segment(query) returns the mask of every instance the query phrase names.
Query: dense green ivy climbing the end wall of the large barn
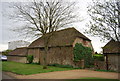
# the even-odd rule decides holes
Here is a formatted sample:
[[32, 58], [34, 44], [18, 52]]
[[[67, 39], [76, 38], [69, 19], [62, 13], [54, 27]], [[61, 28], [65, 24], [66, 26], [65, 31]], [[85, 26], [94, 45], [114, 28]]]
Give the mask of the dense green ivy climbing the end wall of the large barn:
[[76, 43], [74, 47], [74, 61], [80, 61], [84, 59], [85, 67], [91, 65], [93, 61], [92, 49], [89, 47], [83, 46], [81, 43]]

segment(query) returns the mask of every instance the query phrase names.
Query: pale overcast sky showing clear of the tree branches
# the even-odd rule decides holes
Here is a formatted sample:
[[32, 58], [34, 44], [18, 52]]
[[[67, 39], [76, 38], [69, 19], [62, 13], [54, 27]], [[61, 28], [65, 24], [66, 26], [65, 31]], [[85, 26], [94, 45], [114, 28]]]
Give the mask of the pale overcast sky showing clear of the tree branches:
[[[35, 39], [25, 39], [19, 37], [15, 32], [10, 31], [12, 27], [19, 26], [21, 23], [13, 23], [6, 14], [12, 13], [12, 10], [9, 9], [9, 4], [11, 2], [24, 2], [30, 0], [1, 0], [0, 2], [0, 51], [8, 49], [8, 42], [16, 41], [16, 40], [26, 40], [32, 42]], [[84, 34], [84, 29], [87, 29], [86, 24], [89, 22], [89, 15], [87, 14], [87, 6], [91, 4], [92, 0], [69, 0], [77, 2], [78, 14], [83, 19], [83, 21], [73, 24], [72, 27], [75, 27], [78, 31]], [[108, 41], [100, 41], [99, 37], [90, 36], [87, 34], [88, 38], [92, 40], [92, 45], [95, 52], [101, 52], [103, 47]]]

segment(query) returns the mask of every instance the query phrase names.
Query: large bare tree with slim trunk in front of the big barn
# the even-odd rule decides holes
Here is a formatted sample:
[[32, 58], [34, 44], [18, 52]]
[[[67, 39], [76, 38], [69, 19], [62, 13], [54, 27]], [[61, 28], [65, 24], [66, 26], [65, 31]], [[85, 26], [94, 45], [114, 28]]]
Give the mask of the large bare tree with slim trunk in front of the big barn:
[[[44, 66], [47, 68], [47, 53], [50, 36], [54, 31], [66, 27], [71, 23], [76, 22], [77, 16], [74, 14], [74, 2], [63, 1], [34, 1], [29, 3], [14, 4], [12, 8], [15, 13], [12, 19], [23, 21], [25, 24], [14, 31], [20, 31], [33, 36], [44, 37]], [[50, 36], [47, 36], [50, 33]]]

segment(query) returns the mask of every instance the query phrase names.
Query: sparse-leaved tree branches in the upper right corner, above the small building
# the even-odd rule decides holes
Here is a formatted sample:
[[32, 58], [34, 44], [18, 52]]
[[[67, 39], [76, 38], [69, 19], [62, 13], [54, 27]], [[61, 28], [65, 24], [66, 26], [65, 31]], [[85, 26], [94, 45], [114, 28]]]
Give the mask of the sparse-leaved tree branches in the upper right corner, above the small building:
[[87, 33], [120, 41], [120, 0], [93, 0], [88, 13], [91, 20]]

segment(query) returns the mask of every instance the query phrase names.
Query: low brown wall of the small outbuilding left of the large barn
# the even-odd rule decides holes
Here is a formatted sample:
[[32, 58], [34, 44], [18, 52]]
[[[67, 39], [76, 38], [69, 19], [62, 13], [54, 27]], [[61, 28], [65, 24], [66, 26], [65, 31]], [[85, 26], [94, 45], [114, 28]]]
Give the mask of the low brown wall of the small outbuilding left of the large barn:
[[27, 62], [26, 57], [20, 57], [20, 56], [7, 56], [7, 60], [14, 61], [14, 62], [21, 62], [21, 63]]

